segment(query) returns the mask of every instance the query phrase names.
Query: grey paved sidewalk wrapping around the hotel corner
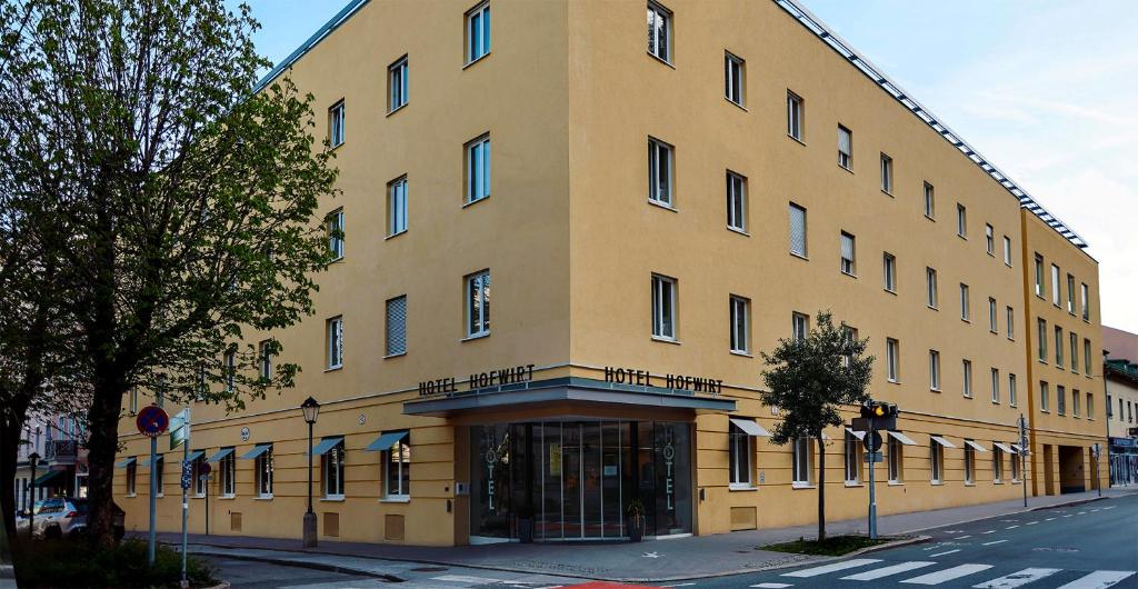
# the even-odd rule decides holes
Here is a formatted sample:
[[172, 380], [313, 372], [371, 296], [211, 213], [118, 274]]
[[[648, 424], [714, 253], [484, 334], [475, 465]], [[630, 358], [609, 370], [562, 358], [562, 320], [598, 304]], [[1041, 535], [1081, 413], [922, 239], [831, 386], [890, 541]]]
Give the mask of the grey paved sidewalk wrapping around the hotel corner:
[[[1138, 489], [1104, 489], [1103, 498], [1133, 495]], [[1097, 491], [1022, 499], [931, 512], [885, 515], [877, 519], [882, 536], [912, 534], [921, 530], [955, 525], [997, 515], [1097, 500]], [[817, 525], [751, 530], [716, 536], [632, 542], [498, 544], [490, 546], [422, 547], [321, 540], [318, 548], [302, 549], [298, 539], [190, 534], [192, 551], [300, 564], [324, 570], [398, 578], [406, 564], [434, 564], [517, 573], [553, 574], [621, 582], [659, 582], [718, 576], [786, 566], [825, 557], [759, 550], [768, 544], [811, 538]], [[865, 533], [865, 519], [826, 523], [830, 534]], [[180, 534], [159, 533], [168, 544]], [[337, 569], [339, 567], [339, 569]]]

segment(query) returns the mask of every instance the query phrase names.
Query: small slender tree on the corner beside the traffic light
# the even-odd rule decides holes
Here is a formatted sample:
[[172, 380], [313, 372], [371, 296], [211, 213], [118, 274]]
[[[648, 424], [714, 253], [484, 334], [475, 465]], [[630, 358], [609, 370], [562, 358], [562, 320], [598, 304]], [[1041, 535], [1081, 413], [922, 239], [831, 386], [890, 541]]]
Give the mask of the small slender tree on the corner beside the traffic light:
[[868, 400], [873, 356], [864, 356], [869, 340], [835, 326], [828, 312], [802, 339], [781, 339], [769, 355], [762, 352], [767, 390], [764, 405], [777, 407], [780, 421], [770, 441], [780, 446], [806, 438], [818, 443], [818, 541], [826, 539], [826, 446], [822, 432], [842, 425], [841, 407]]

